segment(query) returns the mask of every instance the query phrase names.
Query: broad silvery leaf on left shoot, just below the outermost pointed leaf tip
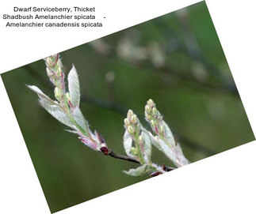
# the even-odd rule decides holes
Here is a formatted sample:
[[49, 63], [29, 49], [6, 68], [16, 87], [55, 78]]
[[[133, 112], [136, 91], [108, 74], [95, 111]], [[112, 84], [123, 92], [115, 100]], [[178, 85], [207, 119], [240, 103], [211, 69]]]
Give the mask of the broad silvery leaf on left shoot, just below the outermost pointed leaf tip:
[[50, 104], [48, 101], [45, 101], [45, 99], [39, 100], [40, 104], [50, 115], [52, 115], [54, 118], [59, 120], [59, 122], [62, 122], [66, 126], [69, 126], [73, 128], [73, 123], [70, 121], [70, 119], [67, 117], [67, 114], [65, 111], [63, 111], [62, 107], [59, 107], [59, 105]]

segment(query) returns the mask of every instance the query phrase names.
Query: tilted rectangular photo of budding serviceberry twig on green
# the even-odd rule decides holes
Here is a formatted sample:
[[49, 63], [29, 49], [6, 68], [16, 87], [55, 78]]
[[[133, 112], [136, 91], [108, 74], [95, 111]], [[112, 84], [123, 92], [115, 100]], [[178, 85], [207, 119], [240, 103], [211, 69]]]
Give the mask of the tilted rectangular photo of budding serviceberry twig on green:
[[1, 77], [51, 212], [255, 140], [205, 2]]

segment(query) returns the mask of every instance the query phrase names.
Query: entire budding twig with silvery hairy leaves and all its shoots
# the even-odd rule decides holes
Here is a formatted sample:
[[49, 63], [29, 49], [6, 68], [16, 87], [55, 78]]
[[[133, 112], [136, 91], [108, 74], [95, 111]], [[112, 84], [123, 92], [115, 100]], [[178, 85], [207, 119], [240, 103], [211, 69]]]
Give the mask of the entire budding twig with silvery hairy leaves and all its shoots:
[[52, 100], [34, 85], [27, 85], [39, 97], [42, 107], [52, 117], [68, 126], [71, 133], [78, 135], [82, 143], [95, 151], [102, 152], [105, 156], [113, 156], [122, 160], [139, 163], [140, 166], [129, 171], [124, 171], [127, 175], [139, 176], [146, 173], [159, 175], [165, 173], [166, 166], [158, 165], [151, 160], [151, 147], [154, 145], [166, 157], [168, 157], [176, 167], [181, 167], [189, 163], [182, 153], [180, 145], [174, 140], [173, 133], [169, 126], [163, 121], [162, 115], [155, 107], [152, 99], [147, 101], [145, 106], [145, 118], [151, 125], [152, 133], [146, 130], [139, 118], [132, 110], [128, 111], [127, 118], [124, 119], [124, 151], [127, 156], [115, 154], [105, 143], [105, 139], [96, 130], [92, 132], [86, 118], [79, 108], [80, 86], [78, 73], [75, 66], [67, 75], [67, 87], [63, 65], [59, 54], [54, 54], [44, 59], [47, 75], [54, 85], [55, 100]]

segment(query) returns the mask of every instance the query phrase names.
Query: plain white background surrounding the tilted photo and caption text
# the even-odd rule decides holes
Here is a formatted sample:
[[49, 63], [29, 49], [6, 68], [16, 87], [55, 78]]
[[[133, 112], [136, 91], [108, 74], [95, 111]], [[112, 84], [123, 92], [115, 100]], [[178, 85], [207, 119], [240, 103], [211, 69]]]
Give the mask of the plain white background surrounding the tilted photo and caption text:
[[[196, 0], [7, 1], [0, 7], [1, 73], [49, 54], [170, 13]], [[227, 62], [256, 132], [255, 6], [253, 0], [206, 1]], [[4, 4], [4, 5], [3, 5]], [[94, 30], [6, 29], [2, 13], [13, 6], [95, 6], [107, 17]], [[0, 212], [50, 213], [29, 152], [0, 80]], [[166, 175], [128, 186], [59, 213], [256, 213], [255, 142], [192, 163]]]

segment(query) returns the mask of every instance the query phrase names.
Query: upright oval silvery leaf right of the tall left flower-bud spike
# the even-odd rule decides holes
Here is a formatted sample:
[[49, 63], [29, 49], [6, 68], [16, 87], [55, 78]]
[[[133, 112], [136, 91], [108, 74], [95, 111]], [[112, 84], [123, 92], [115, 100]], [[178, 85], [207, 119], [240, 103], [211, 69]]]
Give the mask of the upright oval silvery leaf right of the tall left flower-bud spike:
[[68, 91], [71, 96], [71, 103], [75, 106], [79, 106], [80, 102], [80, 86], [78, 80], [78, 73], [73, 65], [71, 71], [67, 75]]

